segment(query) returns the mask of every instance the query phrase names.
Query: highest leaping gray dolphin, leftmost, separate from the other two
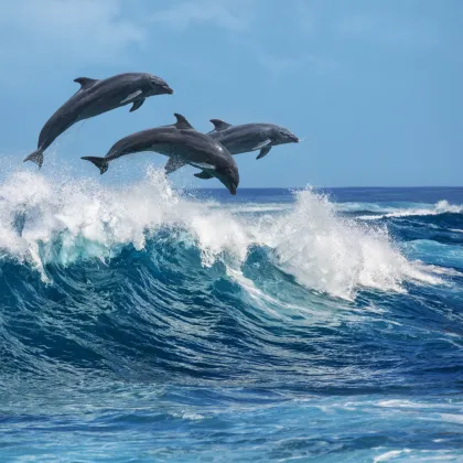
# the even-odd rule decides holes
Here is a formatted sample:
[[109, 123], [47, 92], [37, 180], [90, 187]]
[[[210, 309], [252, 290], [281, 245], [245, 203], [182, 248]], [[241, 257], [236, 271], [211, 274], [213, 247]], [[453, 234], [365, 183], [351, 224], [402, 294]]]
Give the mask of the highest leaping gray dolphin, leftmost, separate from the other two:
[[37, 150], [25, 158], [24, 162], [32, 161], [41, 168], [43, 152], [79, 120], [125, 105], [132, 105], [132, 112], [150, 96], [173, 94], [172, 88], [162, 78], [146, 73], [118, 74], [103, 80], [78, 77], [74, 82], [80, 84], [79, 90], [46, 121], [40, 132]]

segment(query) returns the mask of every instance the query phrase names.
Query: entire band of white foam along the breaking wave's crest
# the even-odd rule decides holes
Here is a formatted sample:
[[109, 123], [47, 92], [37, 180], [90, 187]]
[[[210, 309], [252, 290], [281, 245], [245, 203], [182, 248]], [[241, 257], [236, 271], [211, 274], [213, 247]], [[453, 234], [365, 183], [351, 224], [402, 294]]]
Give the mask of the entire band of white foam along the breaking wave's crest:
[[45, 274], [46, 262], [107, 262], [123, 246], [142, 249], [147, 235], [170, 227], [198, 247], [204, 266], [225, 259], [239, 269], [250, 246], [265, 246], [301, 284], [345, 299], [362, 287], [403, 291], [405, 281], [441, 282], [428, 267], [407, 260], [386, 230], [340, 218], [326, 197], [310, 190], [295, 195], [283, 215], [246, 216], [182, 196], [155, 170], [127, 187], [20, 172], [0, 185], [0, 252]]

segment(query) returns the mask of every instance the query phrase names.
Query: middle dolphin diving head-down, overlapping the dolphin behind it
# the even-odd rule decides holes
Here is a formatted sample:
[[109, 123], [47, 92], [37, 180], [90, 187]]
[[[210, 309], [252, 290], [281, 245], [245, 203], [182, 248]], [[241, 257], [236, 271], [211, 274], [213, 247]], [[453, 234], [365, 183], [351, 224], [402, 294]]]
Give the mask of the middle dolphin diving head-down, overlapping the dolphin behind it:
[[202, 172], [194, 175], [198, 179], [218, 179], [235, 195], [239, 183], [238, 166], [232, 154], [220, 143], [205, 133], [196, 131], [179, 114], [176, 122], [155, 129], [142, 130], [117, 141], [105, 158], [84, 157], [93, 162], [100, 174], [108, 170], [110, 161], [122, 155], [154, 151], [169, 157], [165, 173], [170, 174], [185, 164], [198, 168]]

